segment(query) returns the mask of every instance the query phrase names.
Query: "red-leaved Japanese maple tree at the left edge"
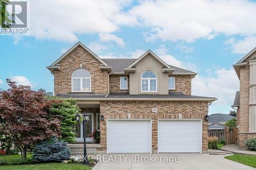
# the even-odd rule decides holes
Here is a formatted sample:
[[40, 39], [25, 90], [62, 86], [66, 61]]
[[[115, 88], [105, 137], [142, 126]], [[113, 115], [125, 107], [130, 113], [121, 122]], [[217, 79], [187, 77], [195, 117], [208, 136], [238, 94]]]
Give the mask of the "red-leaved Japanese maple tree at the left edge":
[[53, 103], [45, 93], [30, 86], [16, 85], [7, 79], [8, 90], [0, 90], [0, 133], [10, 138], [27, 157], [27, 148], [40, 140], [59, 134], [59, 115], [49, 109]]

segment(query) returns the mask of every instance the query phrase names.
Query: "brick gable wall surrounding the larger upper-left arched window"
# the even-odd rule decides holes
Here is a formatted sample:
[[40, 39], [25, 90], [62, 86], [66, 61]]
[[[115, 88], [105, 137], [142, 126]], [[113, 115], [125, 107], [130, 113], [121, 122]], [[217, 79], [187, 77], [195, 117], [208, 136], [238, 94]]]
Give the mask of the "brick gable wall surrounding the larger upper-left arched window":
[[53, 71], [55, 95], [72, 91], [72, 74], [74, 70], [80, 68], [80, 65], [91, 74], [91, 91], [95, 93], [108, 93], [108, 71], [100, 70], [99, 65], [101, 62], [81, 46], [75, 48], [58, 64], [60, 64], [60, 70]]

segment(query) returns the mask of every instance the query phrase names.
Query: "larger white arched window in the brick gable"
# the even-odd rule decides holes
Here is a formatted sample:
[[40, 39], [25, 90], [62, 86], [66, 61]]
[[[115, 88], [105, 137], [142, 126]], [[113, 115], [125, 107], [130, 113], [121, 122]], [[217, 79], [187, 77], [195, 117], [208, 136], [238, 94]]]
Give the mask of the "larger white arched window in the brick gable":
[[73, 72], [72, 91], [91, 91], [91, 74], [88, 70], [78, 68]]

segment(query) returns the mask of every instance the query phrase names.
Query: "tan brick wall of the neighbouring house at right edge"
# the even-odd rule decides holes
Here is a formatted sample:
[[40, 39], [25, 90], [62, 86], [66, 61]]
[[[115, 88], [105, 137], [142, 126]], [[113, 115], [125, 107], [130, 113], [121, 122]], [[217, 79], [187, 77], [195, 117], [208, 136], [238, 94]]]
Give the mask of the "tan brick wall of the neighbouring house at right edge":
[[239, 147], [245, 148], [245, 141], [256, 137], [256, 133], [249, 132], [249, 86], [250, 86], [250, 67], [247, 62], [245, 67], [240, 69], [240, 108], [238, 110], [237, 123], [239, 125], [238, 140]]

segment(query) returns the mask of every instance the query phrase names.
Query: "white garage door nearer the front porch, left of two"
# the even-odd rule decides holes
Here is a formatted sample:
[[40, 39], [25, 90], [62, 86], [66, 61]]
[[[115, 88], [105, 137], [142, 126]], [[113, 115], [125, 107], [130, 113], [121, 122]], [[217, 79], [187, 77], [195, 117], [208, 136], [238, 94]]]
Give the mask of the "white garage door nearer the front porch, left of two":
[[107, 121], [107, 153], [151, 153], [150, 120]]

